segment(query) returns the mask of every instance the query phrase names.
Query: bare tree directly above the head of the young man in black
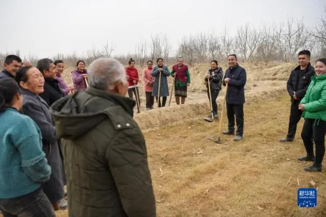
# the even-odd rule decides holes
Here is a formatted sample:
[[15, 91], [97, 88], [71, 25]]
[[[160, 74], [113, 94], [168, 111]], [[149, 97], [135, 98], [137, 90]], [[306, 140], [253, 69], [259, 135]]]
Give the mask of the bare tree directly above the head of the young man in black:
[[299, 49], [309, 49], [311, 45], [303, 19], [293, 23], [293, 18], [288, 18], [286, 24], [281, 23], [277, 32], [277, 47], [283, 61], [293, 60]]

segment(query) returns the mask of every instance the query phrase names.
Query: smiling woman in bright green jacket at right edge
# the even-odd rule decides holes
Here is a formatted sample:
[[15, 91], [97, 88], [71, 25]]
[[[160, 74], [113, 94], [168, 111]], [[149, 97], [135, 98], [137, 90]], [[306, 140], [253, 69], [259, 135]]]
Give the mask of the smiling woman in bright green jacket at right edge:
[[[304, 142], [307, 156], [298, 157], [299, 161], [312, 161], [314, 164], [306, 167], [306, 171], [321, 171], [321, 162], [325, 153], [326, 134], [326, 58], [318, 59], [315, 65], [316, 75], [312, 77], [305, 97], [301, 100], [299, 109], [303, 110], [305, 118], [301, 138]], [[314, 155], [313, 136], [316, 144]]]

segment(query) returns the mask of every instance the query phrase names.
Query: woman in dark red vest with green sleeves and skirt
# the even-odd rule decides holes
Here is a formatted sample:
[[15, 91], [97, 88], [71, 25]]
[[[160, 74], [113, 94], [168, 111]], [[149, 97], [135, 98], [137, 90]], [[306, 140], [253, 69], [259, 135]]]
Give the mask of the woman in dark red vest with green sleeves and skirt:
[[[187, 97], [187, 86], [190, 84], [188, 66], [183, 64], [183, 59], [178, 59], [178, 64], [172, 67], [171, 76], [174, 77], [174, 96], [177, 105], [184, 104]], [[171, 93], [172, 94], [172, 93]]]

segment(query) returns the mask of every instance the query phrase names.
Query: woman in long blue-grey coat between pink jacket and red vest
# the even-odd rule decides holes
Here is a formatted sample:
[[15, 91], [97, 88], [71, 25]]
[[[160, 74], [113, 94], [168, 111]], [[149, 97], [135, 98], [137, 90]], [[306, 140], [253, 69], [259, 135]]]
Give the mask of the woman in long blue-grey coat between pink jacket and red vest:
[[[157, 61], [157, 66], [153, 68], [153, 72], [151, 75], [155, 77], [155, 81], [153, 84], [153, 91], [152, 91], [152, 96], [156, 97], [156, 101], [158, 102], [158, 107], [165, 107], [165, 104], [167, 102], [167, 97], [169, 96], [169, 86], [168, 86], [168, 78], [170, 76], [170, 71], [167, 66], [164, 66], [164, 62], [162, 58], [158, 58]], [[159, 76], [161, 75], [160, 79], [160, 89], [158, 92], [158, 82], [159, 82]], [[158, 93], [159, 93], [159, 98], [162, 97], [162, 104], [160, 99], [158, 99]]]

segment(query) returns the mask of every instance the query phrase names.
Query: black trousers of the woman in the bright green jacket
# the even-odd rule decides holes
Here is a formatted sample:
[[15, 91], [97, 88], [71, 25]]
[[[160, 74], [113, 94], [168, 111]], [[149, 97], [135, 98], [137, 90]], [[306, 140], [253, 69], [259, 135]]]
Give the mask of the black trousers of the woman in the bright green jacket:
[[301, 132], [301, 138], [304, 142], [307, 156], [314, 156], [314, 148], [311, 137], [313, 136], [316, 144], [315, 164], [321, 165], [325, 153], [325, 134], [326, 121], [320, 119], [305, 119], [304, 126]]

